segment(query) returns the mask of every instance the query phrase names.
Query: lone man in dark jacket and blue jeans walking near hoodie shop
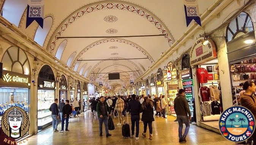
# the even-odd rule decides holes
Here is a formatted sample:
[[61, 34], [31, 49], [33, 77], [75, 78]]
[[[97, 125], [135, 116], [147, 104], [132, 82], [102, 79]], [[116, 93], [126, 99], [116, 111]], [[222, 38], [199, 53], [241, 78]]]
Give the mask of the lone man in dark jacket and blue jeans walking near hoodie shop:
[[[179, 123], [179, 142], [186, 142], [186, 136], [188, 135], [190, 128], [191, 113], [188, 106], [188, 101], [185, 98], [184, 89], [180, 89], [179, 95], [174, 99], [174, 110]], [[185, 123], [186, 128], [182, 136], [183, 123]]]

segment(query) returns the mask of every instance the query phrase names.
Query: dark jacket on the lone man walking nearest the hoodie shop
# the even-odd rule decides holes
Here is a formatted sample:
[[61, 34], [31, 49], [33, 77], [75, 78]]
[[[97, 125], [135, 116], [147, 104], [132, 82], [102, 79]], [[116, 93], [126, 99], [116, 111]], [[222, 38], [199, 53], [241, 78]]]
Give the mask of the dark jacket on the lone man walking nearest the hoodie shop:
[[176, 115], [180, 116], [191, 116], [188, 101], [184, 96], [178, 95], [174, 99], [174, 110]]

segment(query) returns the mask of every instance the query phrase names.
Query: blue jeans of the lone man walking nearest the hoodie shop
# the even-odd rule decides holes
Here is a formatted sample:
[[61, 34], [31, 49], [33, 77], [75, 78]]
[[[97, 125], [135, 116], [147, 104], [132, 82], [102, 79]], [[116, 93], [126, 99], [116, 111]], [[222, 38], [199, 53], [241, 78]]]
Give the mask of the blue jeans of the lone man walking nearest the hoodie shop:
[[182, 139], [182, 129], [183, 129], [183, 123], [186, 125], [185, 132], [183, 134], [184, 137], [188, 135], [188, 131], [190, 128], [190, 120], [188, 116], [180, 116], [177, 115], [177, 120], [179, 123], [179, 138]]

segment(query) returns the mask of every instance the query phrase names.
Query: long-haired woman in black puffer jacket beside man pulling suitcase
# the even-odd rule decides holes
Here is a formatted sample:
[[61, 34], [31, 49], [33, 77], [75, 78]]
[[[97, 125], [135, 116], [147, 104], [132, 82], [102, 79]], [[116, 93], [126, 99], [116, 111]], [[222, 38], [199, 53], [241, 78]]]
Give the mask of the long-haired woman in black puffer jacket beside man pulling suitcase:
[[144, 123], [144, 131], [142, 133], [142, 136], [146, 137], [147, 125], [149, 125], [149, 139], [152, 140], [153, 139], [152, 122], [155, 121], [155, 119], [154, 119], [153, 102], [148, 97], [144, 97], [144, 101], [141, 104], [141, 112], [142, 112], [141, 121], [143, 121]]

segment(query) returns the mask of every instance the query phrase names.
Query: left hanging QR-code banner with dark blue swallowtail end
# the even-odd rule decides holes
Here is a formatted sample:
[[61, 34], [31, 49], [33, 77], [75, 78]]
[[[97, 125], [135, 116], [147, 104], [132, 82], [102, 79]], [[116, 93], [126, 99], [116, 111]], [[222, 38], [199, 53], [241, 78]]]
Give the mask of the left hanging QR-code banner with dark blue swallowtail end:
[[43, 29], [44, 0], [28, 0], [26, 28], [35, 20]]

